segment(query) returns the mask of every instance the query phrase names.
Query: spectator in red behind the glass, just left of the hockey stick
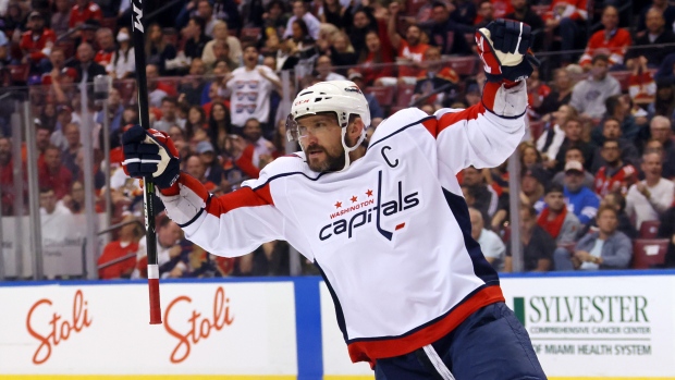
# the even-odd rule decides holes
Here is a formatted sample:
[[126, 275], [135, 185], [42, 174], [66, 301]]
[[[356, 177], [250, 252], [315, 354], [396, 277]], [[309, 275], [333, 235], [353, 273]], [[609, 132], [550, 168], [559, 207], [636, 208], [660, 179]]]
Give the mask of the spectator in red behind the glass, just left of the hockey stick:
[[[124, 217], [122, 222], [130, 222], [130, 224], [118, 230], [118, 238], [108, 243], [98, 258], [99, 268], [109, 265], [98, 270], [98, 278], [101, 280], [127, 279], [136, 266], [138, 241], [144, 235], [143, 226], [132, 214]], [[116, 260], [120, 261], [112, 263]]]

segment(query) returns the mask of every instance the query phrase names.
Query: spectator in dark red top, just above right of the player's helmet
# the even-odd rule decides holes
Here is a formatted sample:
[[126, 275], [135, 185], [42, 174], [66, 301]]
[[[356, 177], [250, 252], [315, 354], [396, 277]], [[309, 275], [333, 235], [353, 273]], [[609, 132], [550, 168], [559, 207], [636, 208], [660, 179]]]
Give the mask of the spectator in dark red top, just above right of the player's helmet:
[[394, 75], [394, 62], [391, 46], [382, 45], [380, 36], [375, 30], [366, 33], [367, 51], [358, 60], [358, 70], [364, 76], [366, 86], [373, 85], [381, 77]]

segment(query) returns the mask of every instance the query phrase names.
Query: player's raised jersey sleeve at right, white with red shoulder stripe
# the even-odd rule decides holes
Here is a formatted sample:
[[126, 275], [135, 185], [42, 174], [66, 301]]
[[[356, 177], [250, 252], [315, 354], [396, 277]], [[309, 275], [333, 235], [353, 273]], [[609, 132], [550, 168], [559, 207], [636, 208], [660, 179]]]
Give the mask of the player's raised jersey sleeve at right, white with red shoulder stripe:
[[526, 107], [525, 81], [511, 88], [488, 83], [481, 103], [458, 112], [439, 110], [422, 124], [435, 137], [439, 160], [456, 174], [469, 166], [504, 162], [525, 134]]

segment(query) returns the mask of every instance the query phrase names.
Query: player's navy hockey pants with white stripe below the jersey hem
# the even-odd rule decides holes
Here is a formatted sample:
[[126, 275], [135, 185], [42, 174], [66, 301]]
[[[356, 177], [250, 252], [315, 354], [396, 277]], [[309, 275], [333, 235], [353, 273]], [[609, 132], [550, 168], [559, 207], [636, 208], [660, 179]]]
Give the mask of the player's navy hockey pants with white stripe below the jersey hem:
[[504, 304], [488, 305], [434, 343], [378, 359], [376, 380], [545, 380], [527, 331]]

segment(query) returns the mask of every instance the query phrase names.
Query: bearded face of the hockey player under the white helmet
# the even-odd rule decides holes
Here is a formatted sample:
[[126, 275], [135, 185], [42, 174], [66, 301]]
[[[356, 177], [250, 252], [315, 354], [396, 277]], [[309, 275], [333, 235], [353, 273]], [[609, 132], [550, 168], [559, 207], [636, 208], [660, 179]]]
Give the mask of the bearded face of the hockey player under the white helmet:
[[[344, 168], [344, 147], [335, 115], [307, 115], [296, 122], [309, 169], [326, 172]], [[352, 146], [348, 140], [346, 143]]]

